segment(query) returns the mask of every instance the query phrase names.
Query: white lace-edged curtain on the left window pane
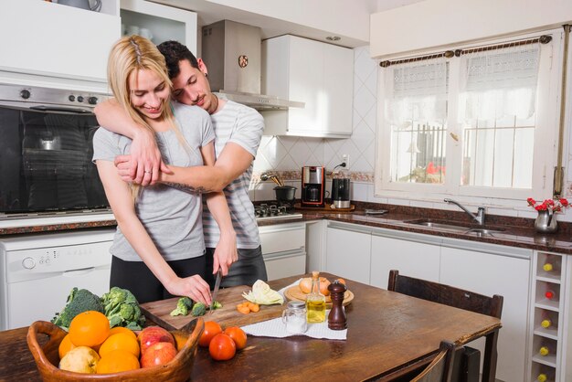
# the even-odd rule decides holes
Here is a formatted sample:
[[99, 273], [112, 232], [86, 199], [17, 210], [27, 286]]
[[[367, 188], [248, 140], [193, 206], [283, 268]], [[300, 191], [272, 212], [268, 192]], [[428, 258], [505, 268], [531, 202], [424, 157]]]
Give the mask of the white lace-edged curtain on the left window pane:
[[385, 115], [398, 128], [446, 118], [446, 58], [392, 65], [385, 70], [385, 88]]

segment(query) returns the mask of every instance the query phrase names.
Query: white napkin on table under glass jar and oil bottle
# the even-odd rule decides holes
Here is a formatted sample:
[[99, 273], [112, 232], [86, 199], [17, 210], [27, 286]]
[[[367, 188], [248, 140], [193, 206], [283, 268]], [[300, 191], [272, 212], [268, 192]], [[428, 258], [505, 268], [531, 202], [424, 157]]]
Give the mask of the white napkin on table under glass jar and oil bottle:
[[[284, 291], [286, 291], [292, 285], [298, 285], [301, 280], [302, 279], [294, 281], [290, 285], [287, 285], [280, 291], [278, 291], [282, 295], [282, 297], [284, 297], [284, 301], [287, 300], [286, 296], [284, 296]], [[307, 335], [312, 338], [327, 338], [331, 340], [347, 339], [347, 329], [332, 330], [328, 328], [327, 317], [329, 312], [330, 312], [329, 310], [326, 311], [326, 321], [324, 321], [323, 323], [308, 324], [308, 330], [302, 334], [291, 334], [286, 332], [286, 324], [282, 322], [281, 317], [274, 318], [268, 321], [262, 321], [261, 323], [257, 324], [249, 324], [246, 326], [242, 326], [242, 330], [244, 330], [247, 334], [264, 336], [264, 337], [284, 338], [284, 337], [290, 337], [291, 335]]]

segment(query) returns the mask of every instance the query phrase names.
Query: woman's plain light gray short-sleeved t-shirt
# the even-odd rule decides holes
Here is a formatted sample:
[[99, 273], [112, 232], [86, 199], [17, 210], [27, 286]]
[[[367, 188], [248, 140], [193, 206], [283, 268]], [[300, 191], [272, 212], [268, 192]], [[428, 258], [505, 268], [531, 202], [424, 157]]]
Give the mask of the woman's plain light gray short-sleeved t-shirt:
[[[202, 165], [200, 147], [215, 138], [210, 117], [198, 106], [176, 102], [172, 105], [188, 147], [179, 142], [173, 130], [156, 133], [163, 160], [165, 164], [182, 167]], [[112, 162], [117, 155], [129, 154], [131, 142], [122, 135], [98, 129], [93, 136], [93, 160]], [[200, 195], [166, 185], [146, 186], [137, 197], [135, 212], [164, 260], [184, 260], [204, 254]], [[141, 261], [119, 227], [110, 251], [122, 260]]]

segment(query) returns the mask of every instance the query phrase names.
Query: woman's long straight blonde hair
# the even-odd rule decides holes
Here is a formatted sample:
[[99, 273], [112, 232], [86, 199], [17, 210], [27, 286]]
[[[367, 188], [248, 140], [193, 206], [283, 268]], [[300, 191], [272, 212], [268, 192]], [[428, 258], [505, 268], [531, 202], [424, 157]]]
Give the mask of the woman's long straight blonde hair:
[[[142, 114], [132, 106], [131, 102], [129, 78], [133, 72], [142, 69], [153, 71], [161, 80], [164, 80], [165, 86], [169, 90], [173, 89], [173, 82], [169, 79], [164, 56], [154, 46], [154, 43], [141, 36], [122, 37], [111, 48], [107, 64], [107, 80], [113, 96], [123, 110], [129, 114], [134, 122], [143, 125], [154, 133], [153, 128], [149, 123], [145, 122]], [[169, 96], [163, 101], [164, 107], [161, 117], [171, 124], [178, 141], [188, 151], [191, 148], [175, 123], [175, 115], [170, 107], [170, 94], [171, 92], [169, 91]], [[131, 187], [134, 202], [139, 195], [141, 187], [138, 185], [132, 185]]]

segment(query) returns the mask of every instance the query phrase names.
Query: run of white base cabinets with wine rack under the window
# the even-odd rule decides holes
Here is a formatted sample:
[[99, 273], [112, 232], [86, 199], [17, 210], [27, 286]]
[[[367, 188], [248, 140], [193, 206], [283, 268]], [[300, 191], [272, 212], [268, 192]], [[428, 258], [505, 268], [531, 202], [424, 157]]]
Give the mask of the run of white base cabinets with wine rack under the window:
[[[326, 230], [325, 270], [341, 277], [387, 288], [389, 271], [395, 269], [411, 277], [437, 281], [490, 296], [502, 295], [503, 328], [497, 345], [497, 377], [503, 381], [530, 380], [527, 372], [530, 368], [530, 364], [527, 364], [527, 349], [531, 346], [539, 347], [541, 343], [551, 345], [548, 340], [553, 339], [552, 345], [556, 344], [556, 334], [546, 335], [546, 339], [535, 335], [533, 341], [527, 341], [531, 322], [529, 305], [533, 296], [532, 249], [335, 221], [328, 221]], [[564, 267], [565, 262], [560, 258], [551, 261], [558, 269]], [[541, 316], [540, 308], [551, 312], [564, 311], [562, 300], [550, 303], [541, 298], [546, 289], [551, 288], [561, 299], [568, 299], [565, 295], [567, 289], [563, 286], [564, 280], [564, 276], [558, 277], [557, 280], [554, 276], [548, 278], [547, 275], [537, 278], [535, 314], [538, 317]], [[557, 315], [554, 319], [557, 319]], [[562, 323], [562, 319], [559, 321]], [[540, 319], [535, 318], [535, 322], [539, 325]], [[566, 337], [566, 334], [561, 334], [558, 338], [563, 337]], [[559, 341], [558, 344], [564, 343], [565, 341]], [[483, 352], [484, 339], [471, 343], [471, 346]], [[559, 352], [567, 350], [572, 354], [572, 345], [568, 346], [570, 349], [565, 349], [564, 345], [558, 346]], [[535, 355], [532, 374], [544, 370], [541, 366], [554, 365], [553, 369], [556, 369], [559, 364], [556, 356], [553, 358], [550, 360], [550, 357], [539, 358]]]

